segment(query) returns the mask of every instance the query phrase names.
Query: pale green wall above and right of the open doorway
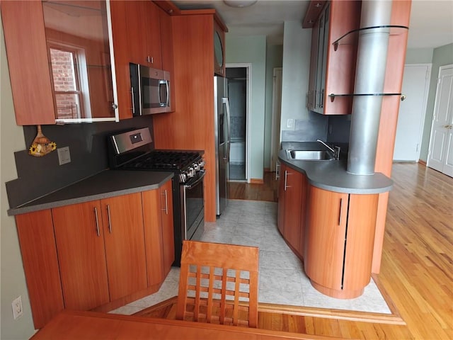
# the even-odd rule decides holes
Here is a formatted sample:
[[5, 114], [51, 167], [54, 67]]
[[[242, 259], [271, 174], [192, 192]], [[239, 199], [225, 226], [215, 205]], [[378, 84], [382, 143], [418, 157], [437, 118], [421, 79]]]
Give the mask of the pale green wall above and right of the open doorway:
[[248, 113], [249, 179], [263, 179], [266, 97], [266, 37], [255, 35], [231, 38], [226, 33], [225, 62], [251, 64], [251, 107]]

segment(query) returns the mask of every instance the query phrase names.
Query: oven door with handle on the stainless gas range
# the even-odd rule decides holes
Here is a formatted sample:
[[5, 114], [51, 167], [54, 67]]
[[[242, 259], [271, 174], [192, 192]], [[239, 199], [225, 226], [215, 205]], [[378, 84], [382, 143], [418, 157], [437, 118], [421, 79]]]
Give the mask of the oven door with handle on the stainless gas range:
[[200, 239], [205, 229], [204, 177], [205, 170], [201, 170], [190, 181], [181, 184], [183, 239]]

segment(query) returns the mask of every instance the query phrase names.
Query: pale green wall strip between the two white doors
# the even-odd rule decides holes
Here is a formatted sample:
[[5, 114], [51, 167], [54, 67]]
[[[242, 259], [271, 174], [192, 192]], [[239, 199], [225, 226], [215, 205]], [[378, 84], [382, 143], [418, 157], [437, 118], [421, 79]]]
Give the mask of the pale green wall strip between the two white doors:
[[423, 126], [422, 145], [420, 148], [420, 159], [423, 160], [424, 162], [427, 162], [428, 160], [432, 114], [434, 113], [434, 103], [436, 98], [437, 77], [439, 76], [439, 67], [448, 64], [453, 64], [453, 44], [437, 47], [432, 52], [430, 91], [428, 94], [428, 104], [426, 106], [425, 125]]

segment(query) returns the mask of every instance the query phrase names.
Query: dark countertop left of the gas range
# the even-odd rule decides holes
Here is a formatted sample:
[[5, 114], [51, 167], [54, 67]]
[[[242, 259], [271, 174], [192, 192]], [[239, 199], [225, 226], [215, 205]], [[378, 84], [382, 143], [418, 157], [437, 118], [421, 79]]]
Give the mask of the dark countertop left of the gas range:
[[173, 172], [164, 171], [105, 170], [59, 191], [11, 208], [8, 210], [8, 215], [19, 215], [62, 205], [154, 190], [160, 188], [172, 177]]

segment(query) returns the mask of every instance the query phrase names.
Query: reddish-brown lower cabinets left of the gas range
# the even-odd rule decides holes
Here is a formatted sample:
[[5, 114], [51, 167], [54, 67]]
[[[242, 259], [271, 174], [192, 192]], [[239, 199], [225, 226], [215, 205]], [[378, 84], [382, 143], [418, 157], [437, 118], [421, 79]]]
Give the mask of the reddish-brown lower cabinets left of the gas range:
[[16, 215], [35, 328], [65, 308], [124, 305], [159, 290], [174, 259], [172, 201], [168, 181]]

